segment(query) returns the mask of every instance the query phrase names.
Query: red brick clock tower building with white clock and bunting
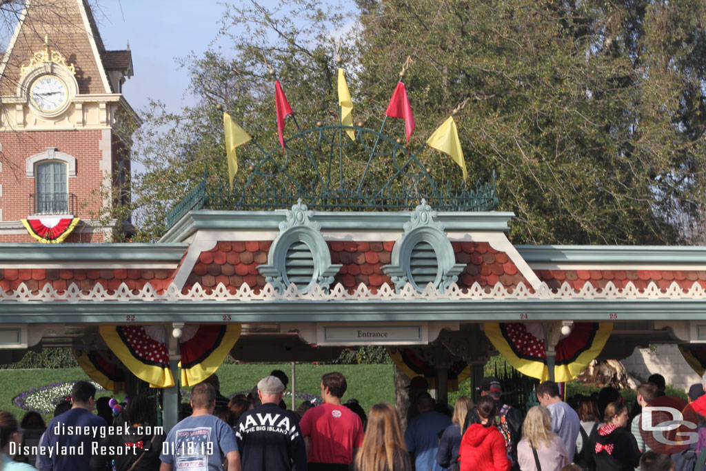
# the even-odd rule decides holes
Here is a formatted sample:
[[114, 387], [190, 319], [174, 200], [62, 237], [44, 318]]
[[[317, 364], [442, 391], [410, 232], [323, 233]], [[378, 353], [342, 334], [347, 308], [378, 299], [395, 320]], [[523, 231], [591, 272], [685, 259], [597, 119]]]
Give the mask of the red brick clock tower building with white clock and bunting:
[[109, 242], [136, 119], [127, 50], [105, 49], [85, 0], [26, 0], [0, 64], [0, 243]]

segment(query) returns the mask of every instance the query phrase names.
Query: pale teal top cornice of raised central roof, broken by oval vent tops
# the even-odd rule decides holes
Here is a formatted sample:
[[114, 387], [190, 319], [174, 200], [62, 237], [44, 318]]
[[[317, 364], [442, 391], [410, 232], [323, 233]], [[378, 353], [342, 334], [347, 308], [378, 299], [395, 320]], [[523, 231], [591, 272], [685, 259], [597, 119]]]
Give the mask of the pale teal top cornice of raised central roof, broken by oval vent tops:
[[[313, 219], [328, 231], [398, 231], [409, 222], [411, 211], [326, 212], [313, 211]], [[197, 230], [277, 230], [284, 210], [275, 211], [191, 211], [171, 227], [160, 242], [184, 242]], [[448, 231], [506, 231], [513, 213], [439, 212], [436, 220]]]

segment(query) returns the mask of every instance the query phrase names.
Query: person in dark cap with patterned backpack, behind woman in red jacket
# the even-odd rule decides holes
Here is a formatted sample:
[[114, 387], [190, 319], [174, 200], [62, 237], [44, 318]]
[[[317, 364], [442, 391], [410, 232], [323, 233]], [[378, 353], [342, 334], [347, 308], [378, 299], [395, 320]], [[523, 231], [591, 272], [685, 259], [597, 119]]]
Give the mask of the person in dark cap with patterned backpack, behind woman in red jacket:
[[[522, 412], [517, 407], [512, 407], [503, 403], [502, 385], [500, 380], [495, 376], [487, 376], [483, 378], [480, 386], [477, 388], [481, 393], [481, 398], [489, 396], [495, 401], [496, 415], [495, 422], [498, 431], [500, 431], [505, 441], [505, 449], [508, 452], [508, 458], [513, 465], [513, 471], [517, 471], [520, 467], [517, 466], [517, 442], [520, 441], [522, 431]], [[478, 423], [479, 416], [477, 407], [468, 413], [463, 424], [465, 431], [470, 424]]]

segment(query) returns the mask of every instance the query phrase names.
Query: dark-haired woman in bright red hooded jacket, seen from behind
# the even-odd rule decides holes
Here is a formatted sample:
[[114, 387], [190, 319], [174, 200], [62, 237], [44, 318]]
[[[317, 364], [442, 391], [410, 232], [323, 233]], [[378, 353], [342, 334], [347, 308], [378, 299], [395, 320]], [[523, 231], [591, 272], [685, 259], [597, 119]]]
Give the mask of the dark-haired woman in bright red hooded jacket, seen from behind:
[[495, 426], [498, 408], [495, 400], [484, 395], [478, 401], [479, 424], [471, 424], [463, 434], [460, 456], [461, 471], [510, 471], [505, 439]]

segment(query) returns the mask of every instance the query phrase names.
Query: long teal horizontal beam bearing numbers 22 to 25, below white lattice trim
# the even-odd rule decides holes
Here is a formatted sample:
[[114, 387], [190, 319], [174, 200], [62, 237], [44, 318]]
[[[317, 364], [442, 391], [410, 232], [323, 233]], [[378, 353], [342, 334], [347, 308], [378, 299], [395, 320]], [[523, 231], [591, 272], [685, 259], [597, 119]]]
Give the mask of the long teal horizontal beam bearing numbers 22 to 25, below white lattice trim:
[[[129, 313], [129, 314], [128, 314]], [[696, 321], [703, 299], [594, 299], [351, 302], [15, 302], [4, 303], [0, 324], [16, 323], [247, 323], [378, 321]]]

